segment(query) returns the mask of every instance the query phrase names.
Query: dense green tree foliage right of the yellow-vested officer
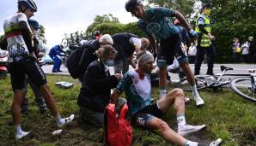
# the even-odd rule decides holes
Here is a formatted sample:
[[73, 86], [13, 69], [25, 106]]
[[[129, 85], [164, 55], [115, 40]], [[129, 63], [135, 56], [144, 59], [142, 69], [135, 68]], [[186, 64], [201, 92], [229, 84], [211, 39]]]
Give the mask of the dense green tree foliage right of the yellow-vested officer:
[[256, 35], [255, 0], [202, 0], [211, 3], [212, 33], [216, 36], [219, 62], [232, 61], [231, 44], [234, 37], [241, 43]]

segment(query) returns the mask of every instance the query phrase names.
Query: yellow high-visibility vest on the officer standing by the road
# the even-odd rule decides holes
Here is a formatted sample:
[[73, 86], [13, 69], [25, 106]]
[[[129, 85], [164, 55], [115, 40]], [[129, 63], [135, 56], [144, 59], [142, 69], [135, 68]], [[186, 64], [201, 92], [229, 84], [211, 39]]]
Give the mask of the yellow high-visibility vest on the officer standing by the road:
[[[204, 29], [205, 29], [207, 32], [210, 33], [210, 19], [208, 18], [208, 16], [207, 16], [207, 15], [200, 15], [200, 16], [198, 17], [198, 19], [199, 19], [199, 18], [203, 18], [203, 20], [204, 20]], [[198, 19], [197, 19], [197, 21], [196, 21], [196, 32], [201, 33], [201, 31], [200, 31], [199, 28], [198, 28]], [[202, 33], [203, 33], [203, 32], [202, 32]], [[210, 37], [207, 36], [207, 34], [203, 34], [203, 36], [202, 36], [202, 38], [201, 38], [200, 46], [201, 46], [201, 47], [209, 47], [210, 44], [211, 44], [211, 42], [210, 42]]]

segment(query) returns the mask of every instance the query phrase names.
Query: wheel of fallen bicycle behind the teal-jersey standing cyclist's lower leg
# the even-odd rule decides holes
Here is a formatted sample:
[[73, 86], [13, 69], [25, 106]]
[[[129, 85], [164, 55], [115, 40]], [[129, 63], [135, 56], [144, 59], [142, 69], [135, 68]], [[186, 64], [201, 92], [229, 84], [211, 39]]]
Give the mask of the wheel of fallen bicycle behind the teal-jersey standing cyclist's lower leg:
[[[210, 87], [210, 85], [213, 85], [216, 82], [216, 76], [196, 75], [195, 81], [196, 81], [197, 89], [199, 91], [199, 90], [203, 90], [205, 88]], [[190, 83], [188, 83], [186, 78], [180, 79], [180, 82], [178, 83], [178, 87], [180, 87], [184, 91], [192, 91], [192, 87]]]

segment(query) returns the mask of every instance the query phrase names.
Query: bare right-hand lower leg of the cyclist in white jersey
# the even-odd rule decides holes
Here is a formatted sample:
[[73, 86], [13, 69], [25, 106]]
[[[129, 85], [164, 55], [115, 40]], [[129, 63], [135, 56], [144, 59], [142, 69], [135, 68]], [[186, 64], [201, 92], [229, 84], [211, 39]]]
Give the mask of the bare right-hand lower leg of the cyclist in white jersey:
[[54, 97], [52, 96], [52, 92], [48, 85], [40, 87], [40, 91], [42, 91], [44, 95], [44, 99], [46, 101], [47, 108], [52, 112], [54, 117], [58, 116], [58, 110], [56, 107], [56, 103]]

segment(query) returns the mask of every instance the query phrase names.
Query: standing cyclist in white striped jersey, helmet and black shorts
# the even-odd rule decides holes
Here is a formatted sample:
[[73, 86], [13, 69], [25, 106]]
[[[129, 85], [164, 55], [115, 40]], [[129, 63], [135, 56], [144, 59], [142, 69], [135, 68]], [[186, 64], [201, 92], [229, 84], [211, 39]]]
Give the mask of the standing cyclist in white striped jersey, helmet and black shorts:
[[46, 75], [36, 61], [33, 50], [32, 32], [27, 19], [37, 11], [34, 0], [18, 0], [18, 11], [4, 21], [3, 28], [9, 50], [9, 73], [14, 91], [14, 101], [11, 106], [16, 139], [27, 136], [29, 131], [21, 130], [21, 102], [26, 93], [27, 78], [30, 78], [40, 88], [46, 105], [56, 118], [58, 126], [64, 126], [74, 119], [74, 114], [61, 118], [58, 114], [54, 97], [47, 85]]

